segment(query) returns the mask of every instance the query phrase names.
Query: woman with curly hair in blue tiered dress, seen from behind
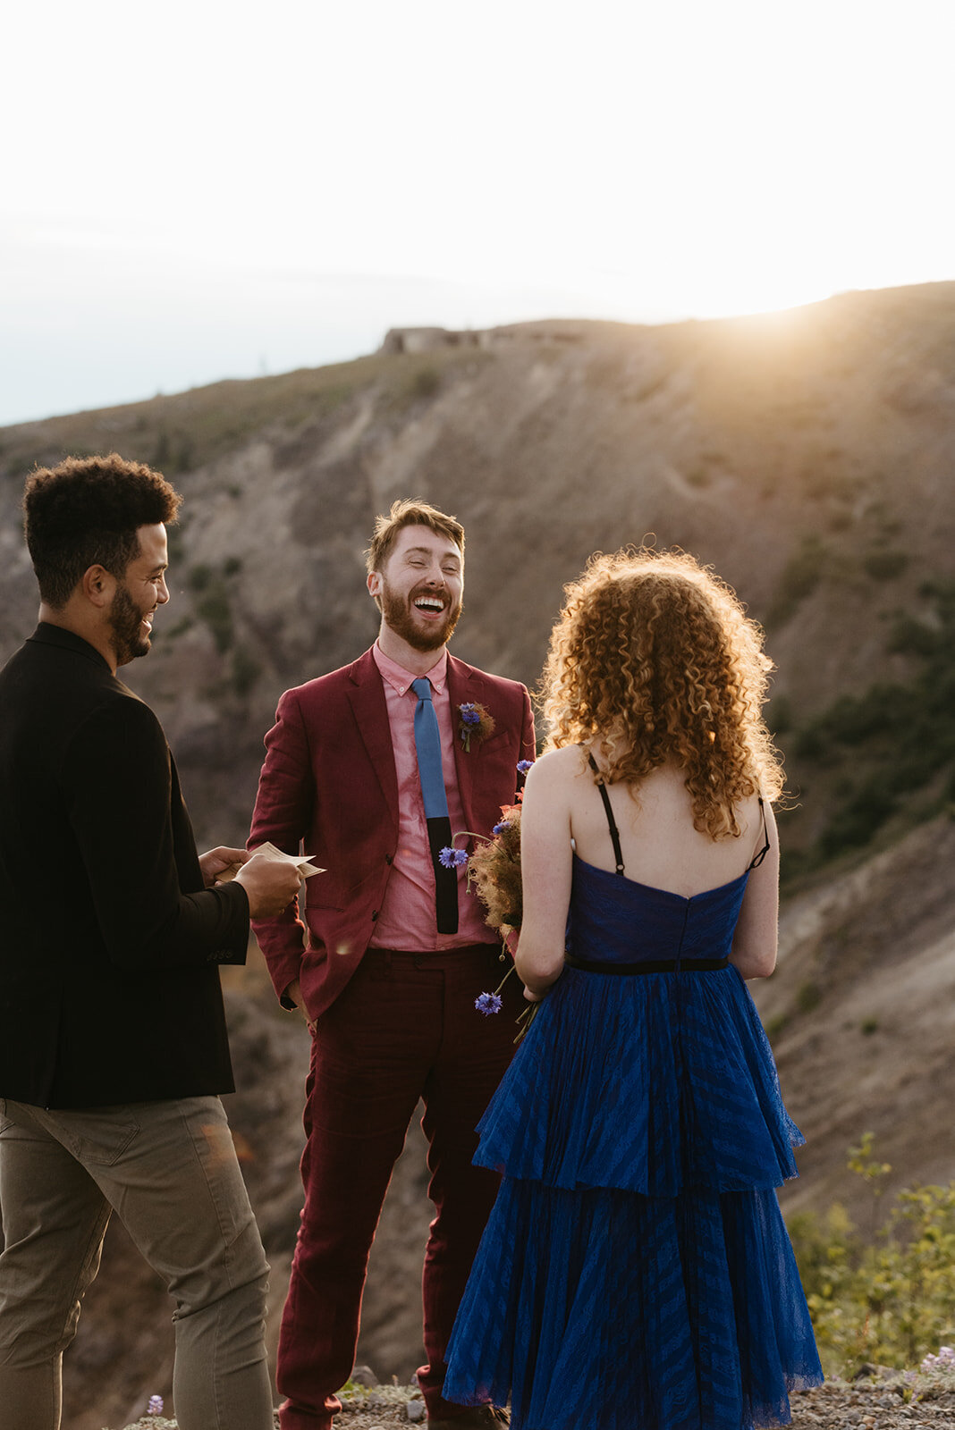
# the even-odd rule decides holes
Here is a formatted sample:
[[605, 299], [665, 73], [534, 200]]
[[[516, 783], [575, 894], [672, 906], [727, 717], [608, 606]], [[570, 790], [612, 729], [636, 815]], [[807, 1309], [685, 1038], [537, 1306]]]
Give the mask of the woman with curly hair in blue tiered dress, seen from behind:
[[566, 595], [522, 814], [540, 1008], [479, 1127], [503, 1181], [443, 1393], [513, 1430], [788, 1424], [822, 1373], [745, 984], [776, 960], [772, 666], [691, 556], [593, 558]]

